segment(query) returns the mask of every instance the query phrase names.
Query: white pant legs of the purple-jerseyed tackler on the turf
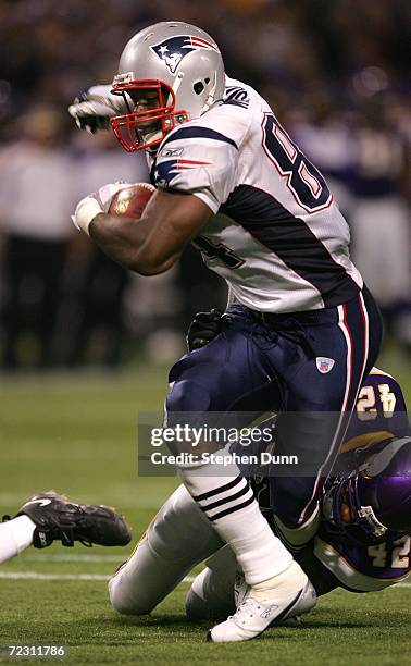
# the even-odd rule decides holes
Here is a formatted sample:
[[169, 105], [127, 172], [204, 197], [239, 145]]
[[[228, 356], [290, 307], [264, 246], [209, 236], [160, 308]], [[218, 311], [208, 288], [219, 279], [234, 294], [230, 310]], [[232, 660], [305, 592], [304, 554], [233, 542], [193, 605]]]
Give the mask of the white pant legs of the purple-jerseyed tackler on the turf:
[[231, 548], [222, 546], [212, 523], [180, 485], [110, 580], [113, 607], [124, 614], [150, 613], [197, 564], [216, 553], [187, 595], [187, 614], [208, 618], [233, 612], [237, 564]]

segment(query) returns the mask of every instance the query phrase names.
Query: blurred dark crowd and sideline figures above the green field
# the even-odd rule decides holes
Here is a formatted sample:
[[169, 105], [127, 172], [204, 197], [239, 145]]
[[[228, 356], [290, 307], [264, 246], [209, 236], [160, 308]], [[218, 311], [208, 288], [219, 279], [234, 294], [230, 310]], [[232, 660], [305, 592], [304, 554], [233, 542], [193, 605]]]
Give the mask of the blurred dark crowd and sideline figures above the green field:
[[20, 367], [170, 360], [225, 285], [188, 249], [140, 279], [73, 227], [79, 198], [148, 180], [114, 136], [79, 132], [78, 91], [109, 83], [127, 39], [164, 20], [220, 44], [326, 175], [389, 336], [411, 349], [411, 82], [406, 0], [0, 0], [0, 360]]

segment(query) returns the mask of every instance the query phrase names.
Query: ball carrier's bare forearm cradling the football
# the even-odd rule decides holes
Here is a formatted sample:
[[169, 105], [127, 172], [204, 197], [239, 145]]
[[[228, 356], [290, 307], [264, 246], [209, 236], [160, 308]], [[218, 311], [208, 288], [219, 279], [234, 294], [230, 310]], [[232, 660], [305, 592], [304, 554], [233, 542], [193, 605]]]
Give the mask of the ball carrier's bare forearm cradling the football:
[[90, 236], [111, 259], [140, 275], [158, 275], [169, 270], [179, 252], [153, 252], [147, 243], [147, 227], [135, 220], [121, 220], [100, 213], [90, 224]]

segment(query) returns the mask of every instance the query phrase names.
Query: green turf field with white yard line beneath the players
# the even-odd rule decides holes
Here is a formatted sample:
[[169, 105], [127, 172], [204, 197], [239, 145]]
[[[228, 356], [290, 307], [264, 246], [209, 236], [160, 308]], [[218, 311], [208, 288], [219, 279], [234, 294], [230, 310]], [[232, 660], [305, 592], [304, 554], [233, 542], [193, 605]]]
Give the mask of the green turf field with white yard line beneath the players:
[[[404, 384], [407, 366], [382, 363]], [[74, 499], [115, 505], [138, 538], [175, 485], [137, 476], [137, 414], [161, 409], [164, 369], [5, 379], [0, 387], [0, 511], [54, 488]], [[183, 583], [148, 618], [117, 615], [105, 578], [127, 548], [28, 548], [0, 569], [0, 645], [68, 645], [63, 663], [388, 665], [410, 663], [411, 583], [384, 592], [323, 597], [304, 628], [278, 628], [249, 643], [204, 642], [187, 625]], [[8, 663], [15, 663], [16, 659]], [[20, 659], [22, 661], [22, 659]], [[34, 663], [24, 659], [25, 663]]]

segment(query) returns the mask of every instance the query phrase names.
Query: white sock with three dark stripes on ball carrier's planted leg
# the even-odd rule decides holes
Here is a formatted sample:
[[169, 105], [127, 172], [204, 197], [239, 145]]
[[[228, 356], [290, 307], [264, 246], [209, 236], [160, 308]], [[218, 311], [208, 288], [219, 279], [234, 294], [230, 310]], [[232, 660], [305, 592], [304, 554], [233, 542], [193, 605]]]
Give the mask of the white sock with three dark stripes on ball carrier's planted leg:
[[238, 467], [225, 468], [229, 474], [225, 477], [213, 472], [215, 465], [211, 464], [179, 469], [192, 498], [233, 548], [247, 583], [253, 585], [287, 569], [292, 556], [272, 532]]

